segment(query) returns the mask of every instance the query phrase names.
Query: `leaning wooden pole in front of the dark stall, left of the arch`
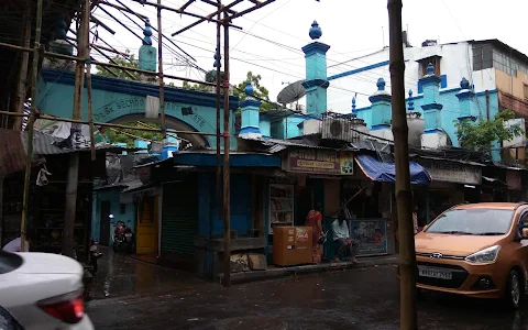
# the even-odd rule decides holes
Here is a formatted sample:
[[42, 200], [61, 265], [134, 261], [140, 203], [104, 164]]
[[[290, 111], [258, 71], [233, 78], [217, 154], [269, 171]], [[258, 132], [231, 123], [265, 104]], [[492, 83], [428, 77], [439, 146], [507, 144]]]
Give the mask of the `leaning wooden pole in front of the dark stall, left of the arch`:
[[[90, 29], [90, 1], [86, 0], [82, 6], [82, 14], [77, 23], [79, 32], [77, 33], [77, 57], [85, 59], [87, 55], [86, 31]], [[74, 110], [72, 118], [74, 120], [80, 120], [80, 109], [82, 107], [82, 91], [85, 88], [85, 62], [77, 61], [75, 67], [75, 94], [74, 94]], [[75, 134], [81, 133], [81, 125], [78, 123], [72, 123], [70, 139]], [[72, 141], [74, 142], [74, 141]], [[79, 153], [74, 151], [69, 154], [68, 174], [66, 183], [66, 207], [64, 215], [64, 229], [63, 229], [63, 249], [64, 255], [74, 256], [74, 229], [75, 218], [77, 215], [77, 186], [79, 180]]]

